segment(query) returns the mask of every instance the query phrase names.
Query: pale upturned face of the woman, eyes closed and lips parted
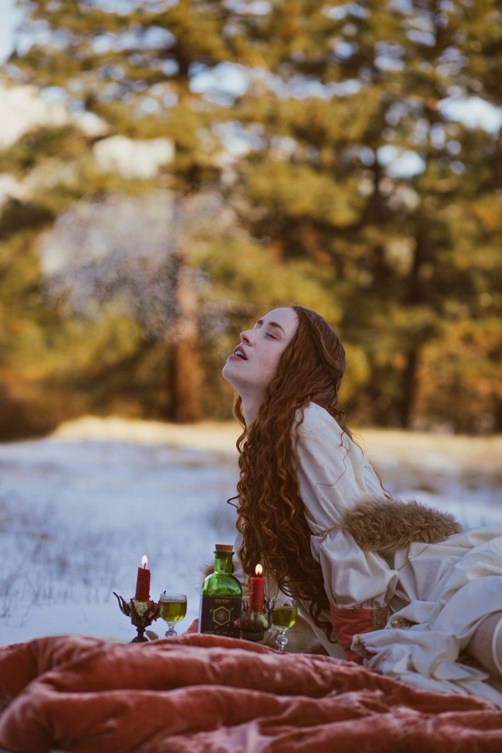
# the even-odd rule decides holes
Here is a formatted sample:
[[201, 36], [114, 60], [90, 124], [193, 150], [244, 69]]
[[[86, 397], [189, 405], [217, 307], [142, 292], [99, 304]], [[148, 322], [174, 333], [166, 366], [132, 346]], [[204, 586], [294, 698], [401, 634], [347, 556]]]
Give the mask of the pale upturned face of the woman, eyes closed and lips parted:
[[223, 375], [242, 398], [263, 396], [297, 328], [297, 313], [287, 308], [270, 311], [253, 329], [241, 332], [241, 342], [227, 358]]

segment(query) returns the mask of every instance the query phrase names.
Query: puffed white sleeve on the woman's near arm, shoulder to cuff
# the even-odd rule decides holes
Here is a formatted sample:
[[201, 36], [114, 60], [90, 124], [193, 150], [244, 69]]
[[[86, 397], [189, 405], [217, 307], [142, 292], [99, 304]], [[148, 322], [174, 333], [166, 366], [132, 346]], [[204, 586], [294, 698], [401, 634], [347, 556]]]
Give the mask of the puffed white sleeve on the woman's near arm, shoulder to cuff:
[[[312, 555], [320, 563], [331, 605], [349, 609], [385, 607], [394, 595], [397, 571], [379, 554], [361, 550], [337, 524], [365, 496], [384, 496], [364, 454], [323, 408], [310, 404], [299, 426], [297, 477], [312, 531]], [[332, 609], [333, 614], [333, 609]]]

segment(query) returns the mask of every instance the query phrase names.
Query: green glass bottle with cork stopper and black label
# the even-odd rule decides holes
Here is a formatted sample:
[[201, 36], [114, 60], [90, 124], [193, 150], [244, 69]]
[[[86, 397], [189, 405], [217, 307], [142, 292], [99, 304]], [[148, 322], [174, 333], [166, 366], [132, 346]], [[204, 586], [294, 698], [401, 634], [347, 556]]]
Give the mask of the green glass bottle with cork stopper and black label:
[[232, 575], [233, 546], [216, 544], [214, 572], [202, 584], [199, 611], [199, 633], [239, 638], [242, 611], [242, 586]]

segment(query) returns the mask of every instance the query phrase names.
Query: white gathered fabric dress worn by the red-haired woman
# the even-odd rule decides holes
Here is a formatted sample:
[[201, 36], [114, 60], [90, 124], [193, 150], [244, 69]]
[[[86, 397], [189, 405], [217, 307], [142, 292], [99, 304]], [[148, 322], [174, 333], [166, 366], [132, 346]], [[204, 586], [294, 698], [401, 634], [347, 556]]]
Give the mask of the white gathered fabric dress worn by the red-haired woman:
[[[352, 648], [371, 654], [364, 660], [369, 669], [415, 687], [502, 706], [502, 681], [456, 661], [479, 623], [502, 610], [502, 532], [469, 529], [440, 544], [410, 544], [385, 559], [364, 552], [332, 526], [361, 498], [383, 498], [379, 480], [324, 408], [310, 403], [304, 416], [297, 475], [327, 597], [341, 608], [388, 607], [385, 629], [356, 636]], [[301, 611], [327, 652], [345, 657], [308, 610]], [[393, 626], [403, 624], [410, 626]]]

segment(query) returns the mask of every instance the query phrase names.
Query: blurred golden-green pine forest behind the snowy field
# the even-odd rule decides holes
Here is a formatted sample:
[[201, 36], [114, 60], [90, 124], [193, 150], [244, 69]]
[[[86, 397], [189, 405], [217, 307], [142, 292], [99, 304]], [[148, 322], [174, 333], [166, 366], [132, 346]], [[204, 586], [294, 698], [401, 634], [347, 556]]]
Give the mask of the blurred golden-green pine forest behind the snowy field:
[[290, 302], [351, 422], [502, 431], [499, 0], [18, 5], [0, 440], [228, 419], [239, 330]]

